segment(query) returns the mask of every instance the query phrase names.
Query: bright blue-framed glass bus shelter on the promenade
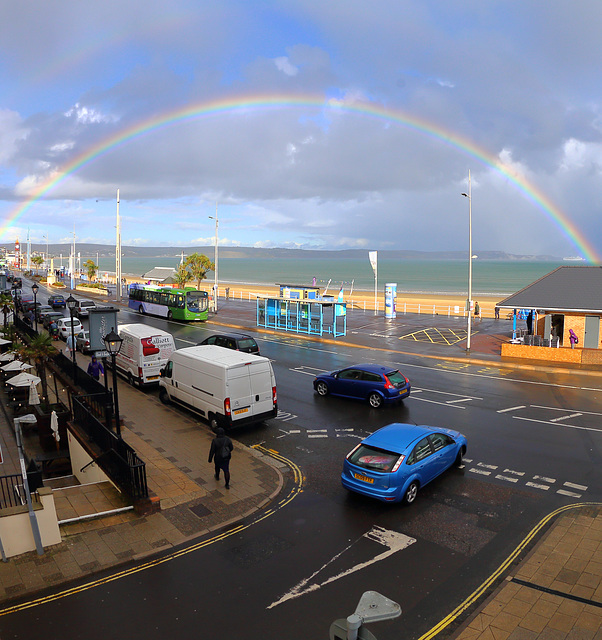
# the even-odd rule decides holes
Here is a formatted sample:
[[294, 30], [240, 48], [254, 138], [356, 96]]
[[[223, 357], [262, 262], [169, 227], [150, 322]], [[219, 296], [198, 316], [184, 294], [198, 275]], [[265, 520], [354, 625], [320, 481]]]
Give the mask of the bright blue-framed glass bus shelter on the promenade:
[[257, 326], [307, 335], [347, 335], [347, 303], [257, 297]]

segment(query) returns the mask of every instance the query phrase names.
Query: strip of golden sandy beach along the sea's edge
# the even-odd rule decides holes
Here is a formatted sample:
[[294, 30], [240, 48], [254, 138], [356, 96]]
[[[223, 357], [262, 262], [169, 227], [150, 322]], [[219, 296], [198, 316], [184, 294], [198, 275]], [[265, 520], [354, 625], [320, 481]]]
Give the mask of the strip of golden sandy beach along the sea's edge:
[[[131, 282], [143, 282], [142, 278], [135, 278], [126, 276], [126, 281]], [[188, 286], [196, 286], [196, 283], [188, 283]], [[201, 284], [201, 289], [212, 292], [213, 281], [204, 280]], [[278, 286], [261, 286], [261, 285], [229, 285], [229, 297], [237, 300], [254, 300], [259, 296], [274, 296], [280, 295], [280, 289]], [[338, 291], [329, 290], [329, 295], [337, 295]], [[226, 287], [220, 285], [219, 287], [219, 300], [225, 300]], [[343, 291], [343, 299], [348, 306], [359, 309], [374, 309], [374, 292], [369, 291], [353, 291], [351, 296], [348, 292]], [[492, 298], [481, 296], [480, 298], [474, 298], [473, 302], [478, 302], [481, 307], [481, 315], [487, 318], [494, 317], [495, 305], [501, 298]], [[378, 309], [383, 311], [385, 308], [385, 293], [384, 290], [378, 292], [377, 296]], [[397, 312], [403, 313], [426, 313], [431, 315], [463, 315], [464, 307], [466, 305], [466, 298], [460, 296], [442, 296], [442, 295], [429, 295], [429, 294], [409, 294], [398, 293], [397, 294]], [[503, 311], [501, 312], [503, 314]]]

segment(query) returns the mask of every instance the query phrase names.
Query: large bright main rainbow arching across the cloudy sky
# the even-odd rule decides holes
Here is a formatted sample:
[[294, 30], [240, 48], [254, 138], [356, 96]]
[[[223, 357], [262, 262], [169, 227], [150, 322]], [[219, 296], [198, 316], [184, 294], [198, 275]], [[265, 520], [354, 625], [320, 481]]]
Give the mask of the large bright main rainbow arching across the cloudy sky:
[[79, 154], [60, 170], [36, 187], [27, 200], [9, 213], [4, 223], [0, 225], [0, 237], [27, 212], [33, 204], [42, 199], [56, 185], [75, 173], [83, 166], [93, 162], [97, 158], [109, 153], [113, 149], [135, 140], [143, 135], [160, 129], [177, 125], [181, 122], [194, 120], [201, 117], [219, 115], [220, 113], [235, 113], [249, 110], [262, 110], [269, 108], [291, 108], [291, 107], [311, 107], [325, 111], [345, 113], [356, 113], [362, 116], [369, 116], [387, 122], [395, 122], [420, 134], [429, 136], [438, 142], [443, 142], [448, 146], [460, 150], [462, 153], [475, 158], [479, 163], [493, 168], [505, 176], [519, 192], [554, 222], [559, 230], [574, 244], [577, 250], [590, 263], [600, 262], [595, 248], [589, 243], [574, 223], [557, 207], [545, 194], [535, 185], [529, 183], [524, 176], [518, 175], [515, 170], [504, 164], [498, 157], [488, 151], [479, 148], [473, 142], [446, 131], [442, 127], [428, 122], [414, 115], [404, 113], [399, 110], [388, 109], [383, 106], [364, 102], [345, 102], [336, 99], [324, 99], [323, 97], [300, 97], [291, 95], [270, 95], [270, 96], [243, 96], [230, 98], [227, 100], [216, 100], [203, 102], [179, 108], [159, 115], [152, 116], [134, 126], [128, 127], [115, 133], [109, 138], [102, 140], [93, 147]]

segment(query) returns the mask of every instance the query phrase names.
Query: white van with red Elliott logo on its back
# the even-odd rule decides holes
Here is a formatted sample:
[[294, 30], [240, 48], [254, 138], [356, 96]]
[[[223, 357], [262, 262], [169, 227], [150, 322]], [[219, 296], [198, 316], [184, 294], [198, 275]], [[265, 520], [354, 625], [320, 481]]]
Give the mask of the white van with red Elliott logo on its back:
[[123, 339], [115, 364], [130, 384], [139, 386], [158, 384], [161, 369], [175, 351], [171, 333], [147, 324], [122, 324], [117, 327]]

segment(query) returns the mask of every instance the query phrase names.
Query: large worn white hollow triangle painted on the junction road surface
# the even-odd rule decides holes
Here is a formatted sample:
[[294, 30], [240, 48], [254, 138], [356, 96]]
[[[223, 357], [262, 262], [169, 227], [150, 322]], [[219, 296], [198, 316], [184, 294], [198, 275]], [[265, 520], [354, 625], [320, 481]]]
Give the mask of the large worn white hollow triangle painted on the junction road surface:
[[301, 580], [299, 584], [293, 587], [288, 593], [285, 593], [279, 600], [272, 602], [272, 604], [269, 605], [267, 608], [272, 609], [273, 607], [276, 607], [279, 604], [286, 602], [287, 600], [298, 598], [299, 596], [302, 596], [305, 593], [317, 591], [321, 587], [331, 582], [334, 582], [335, 580], [339, 580], [340, 578], [344, 578], [345, 576], [348, 576], [351, 573], [360, 571], [361, 569], [365, 569], [366, 567], [369, 567], [375, 562], [380, 562], [381, 560], [385, 560], [389, 556], [392, 556], [394, 553], [397, 553], [398, 551], [401, 551], [416, 542], [415, 538], [410, 538], [402, 533], [397, 533], [396, 531], [389, 531], [388, 529], [383, 529], [382, 527], [378, 527], [378, 526], [372, 527], [372, 529], [370, 529], [370, 531], [365, 533], [362, 537], [367, 538], [368, 540], [372, 540], [373, 542], [376, 542], [386, 547], [387, 550], [383, 551], [383, 553], [380, 553], [374, 556], [374, 558], [372, 558], [371, 560], [368, 560], [366, 562], [361, 562], [360, 564], [356, 564], [355, 566], [351, 567], [350, 569], [347, 569], [346, 571], [342, 571], [341, 573], [338, 573], [334, 576], [331, 576], [330, 578], [327, 578], [323, 582], [314, 582], [310, 584], [311, 581], [320, 572], [324, 571], [326, 567], [328, 567], [328, 565], [333, 563], [335, 560], [338, 560], [338, 558], [340, 558], [345, 553], [345, 551], [351, 549], [351, 547], [355, 544], [355, 542], [357, 542], [356, 540], [355, 542], [351, 543], [348, 547], [343, 549], [343, 551], [341, 551], [340, 553], [337, 553], [331, 560], [329, 560], [326, 564], [322, 565], [317, 571], [312, 573], [311, 576], [309, 576], [309, 578], [305, 578], [304, 580]]

